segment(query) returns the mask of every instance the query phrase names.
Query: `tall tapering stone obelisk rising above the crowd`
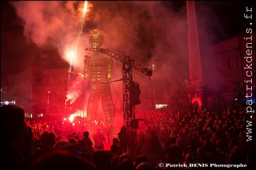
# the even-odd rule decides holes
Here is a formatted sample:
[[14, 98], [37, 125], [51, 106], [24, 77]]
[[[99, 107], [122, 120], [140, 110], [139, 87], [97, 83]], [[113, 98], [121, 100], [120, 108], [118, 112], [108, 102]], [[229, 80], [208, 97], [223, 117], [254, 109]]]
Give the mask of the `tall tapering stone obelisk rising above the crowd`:
[[214, 84], [214, 66], [207, 36], [201, 1], [187, 1], [189, 97], [199, 107], [210, 101], [209, 91]]

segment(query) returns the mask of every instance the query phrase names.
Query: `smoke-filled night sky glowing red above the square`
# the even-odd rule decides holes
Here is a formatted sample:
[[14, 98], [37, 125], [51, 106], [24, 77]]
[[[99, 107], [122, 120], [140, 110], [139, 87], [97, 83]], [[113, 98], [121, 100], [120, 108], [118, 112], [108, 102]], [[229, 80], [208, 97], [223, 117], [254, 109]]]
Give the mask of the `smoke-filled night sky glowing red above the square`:
[[[152, 60], [169, 60], [172, 76], [188, 75], [185, 1], [89, 1], [77, 42], [84, 2], [1, 1], [1, 86], [7, 84], [7, 76], [30, 66], [69, 67], [75, 44], [73, 66], [82, 70], [93, 29], [105, 32], [103, 48], [129, 55], [146, 67]], [[210, 44], [245, 32], [245, 6], [252, 7], [251, 1], [201, 4], [209, 21]]]

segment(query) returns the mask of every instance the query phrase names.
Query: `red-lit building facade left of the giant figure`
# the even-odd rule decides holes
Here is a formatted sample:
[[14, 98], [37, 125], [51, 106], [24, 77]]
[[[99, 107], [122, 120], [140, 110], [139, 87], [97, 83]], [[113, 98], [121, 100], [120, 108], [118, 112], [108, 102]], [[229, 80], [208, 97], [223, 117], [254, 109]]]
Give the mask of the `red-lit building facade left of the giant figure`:
[[23, 106], [26, 117], [63, 115], [67, 82], [68, 68], [30, 67], [8, 77], [8, 86], [2, 88], [1, 101], [15, 101]]

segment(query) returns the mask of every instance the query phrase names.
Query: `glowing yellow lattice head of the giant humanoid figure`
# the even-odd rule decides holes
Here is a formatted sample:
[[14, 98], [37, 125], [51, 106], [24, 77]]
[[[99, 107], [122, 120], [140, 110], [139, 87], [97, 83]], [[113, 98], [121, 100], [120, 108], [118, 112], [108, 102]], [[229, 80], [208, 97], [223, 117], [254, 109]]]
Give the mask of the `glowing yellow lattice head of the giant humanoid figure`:
[[101, 30], [92, 30], [89, 35], [89, 45], [91, 48], [100, 48], [104, 43], [105, 34]]

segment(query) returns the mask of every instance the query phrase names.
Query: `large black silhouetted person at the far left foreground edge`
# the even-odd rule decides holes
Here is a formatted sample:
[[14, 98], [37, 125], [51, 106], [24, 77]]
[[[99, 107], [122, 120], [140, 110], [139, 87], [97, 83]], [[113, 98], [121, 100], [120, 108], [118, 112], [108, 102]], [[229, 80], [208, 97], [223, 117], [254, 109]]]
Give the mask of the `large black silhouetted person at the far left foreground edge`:
[[[4, 169], [24, 169], [22, 147], [28, 135], [23, 107], [9, 104], [1, 106], [1, 166]], [[29, 147], [28, 147], [29, 148]]]

